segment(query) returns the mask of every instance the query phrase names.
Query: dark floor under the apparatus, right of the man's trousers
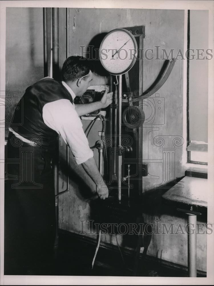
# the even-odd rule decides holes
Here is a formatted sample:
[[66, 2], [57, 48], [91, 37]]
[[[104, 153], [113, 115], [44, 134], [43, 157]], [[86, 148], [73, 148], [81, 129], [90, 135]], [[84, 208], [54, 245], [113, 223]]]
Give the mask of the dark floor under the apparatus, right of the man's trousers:
[[[95, 245], [86, 241], [59, 234], [54, 275], [133, 276], [134, 257], [123, 255], [123, 261], [119, 251], [104, 248], [99, 248], [91, 269], [95, 248]], [[147, 259], [140, 261], [136, 276], [187, 277], [187, 273]]]

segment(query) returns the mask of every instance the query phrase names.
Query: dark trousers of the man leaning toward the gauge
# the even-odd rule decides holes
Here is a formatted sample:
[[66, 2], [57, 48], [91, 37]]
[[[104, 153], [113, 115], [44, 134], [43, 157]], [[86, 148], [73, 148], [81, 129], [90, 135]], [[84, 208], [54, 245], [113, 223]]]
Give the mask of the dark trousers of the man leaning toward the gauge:
[[51, 275], [56, 231], [53, 150], [10, 134], [5, 162], [5, 275]]

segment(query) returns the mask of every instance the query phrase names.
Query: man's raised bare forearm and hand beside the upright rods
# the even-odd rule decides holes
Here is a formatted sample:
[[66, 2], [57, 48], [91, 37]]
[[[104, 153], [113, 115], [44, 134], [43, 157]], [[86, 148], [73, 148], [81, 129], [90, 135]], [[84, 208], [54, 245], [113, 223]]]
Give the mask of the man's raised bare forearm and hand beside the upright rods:
[[112, 94], [113, 92], [107, 93], [107, 89], [102, 96], [100, 101], [92, 102], [88, 104], [75, 104], [75, 110], [78, 114], [78, 116], [82, 116], [91, 112], [94, 112], [95, 110], [106, 108], [109, 106], [109, 104], [112, 103]]

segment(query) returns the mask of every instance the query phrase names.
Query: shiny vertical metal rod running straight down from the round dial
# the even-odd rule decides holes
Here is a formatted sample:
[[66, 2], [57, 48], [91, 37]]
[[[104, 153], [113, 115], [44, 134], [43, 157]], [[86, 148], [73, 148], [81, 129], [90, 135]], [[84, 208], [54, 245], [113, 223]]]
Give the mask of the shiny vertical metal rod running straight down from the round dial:
[[[121, 146], [121, 121], [122, 121], [122, 75], [119, 75], [118, 89], [118, 147]], [[122, 154], [118, 153], [118, 200], [121, 200], [121, 181], [122, 181]]]

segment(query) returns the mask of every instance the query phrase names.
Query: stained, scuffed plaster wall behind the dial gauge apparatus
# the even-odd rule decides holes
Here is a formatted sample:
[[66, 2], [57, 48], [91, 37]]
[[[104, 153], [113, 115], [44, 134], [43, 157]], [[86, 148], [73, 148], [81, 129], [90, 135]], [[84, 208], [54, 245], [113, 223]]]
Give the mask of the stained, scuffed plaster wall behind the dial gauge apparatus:
[[[74, 19], [75, 17], [75, 19]], [[75, 29], [73, 30], [75, 20]], [[68, 55], [80, 55], [80, 46], [88, 46], [94, 37], [107, 33], [117, 27], [131, 27], [145, 25], [146, 37], [144, 50], [154, 49], [154, 53], [148, 52], [148, 60], [143, 62], [143, 85], [146, 90], [154, 82], [164, 60], [162, 49], [169, 54], [174, 49], [173, 55], [183, 52], [184, 41], [184, 11], [182, 10], [150, 10], [150, 9], [69, 9], [69, 51]], [[160, 59], [157, 57], [155, 46], [160, 46]], [[105, 78], [96, 78], [95, 84], [105, 84]], [[185, 96], [185, 95], [184, 95]], [[158, 103], [158, 100], [161, 100]], [[155, 107], [154, 107], [155, 106]], [[158, 107], [161, 107], [158, 109]], [[152, 109], [153, 108], [153, 109]], [[144, 192], [154, 190], [150, 198], [151, 210], [144, 210], [144, 219], [147, 223], [160, 220], [162, 223], [175, 224], [175, 229], [181, 223], [185, 229], [187, 223], [185, 217], [179, 217], [175, 210], [171, 214], [166, 212], [167, 207], [161, 205], [161, 196], [157, 198], [157, 186], [164, 186], [167, 182], [184, 176], [181, 165], [182, 134], [183, 134], [183, 60], [182, 56], [177, 61], [167, 82], [158, 91], [158, 94], [150, 98], [144, 106], [147, 118], [154, 114], [155, 121], [143, 127], [143, 158], [148, 163], [149, 175], [142, 180]], [[84, 129], [89, 123], [83, 122]], [[101, 122], [97, 122], [89, 138], [90, 145], [98, 140], [98, 131], [102, 129]], [[61, 142], [61, 156], [64, 154], [64, 143]], [[94, 150], [98, 158], [97, 150]], [[61, 169], [64, 169], [63, 159]], [[74, 165], [70, 154], [69, 170], [70, 192], [59, 198], [59, 227], [74, 233], [80, 233], [80, 220], [91, 219], [91, 208], [87, 198], [95, 191], [94, 184], [82, 171], [81, 166]], [[81, 177], [83, 179], [81, 179]], [[60, 172], [60, 189], [65, 186], [65, 172]], [[155, 204], [158, 204], [156, 208]], [[155, 211], [154, 211], [155, 208]], [[89, 235], [96, 238], [96, 235]], [[101, 240], [116, 245], [114, 235], [102, 235]], [[206, 236], [197, 237], [197, 269], [206, 271]], [[118, 236], [121, 245], [123, 237]], [[177, 246], [177, 247], [176, 247]], [[186, 235], [153, 235], [148, 255], [152, 255], [167, 261], [187, 265], [187, 236]]]

